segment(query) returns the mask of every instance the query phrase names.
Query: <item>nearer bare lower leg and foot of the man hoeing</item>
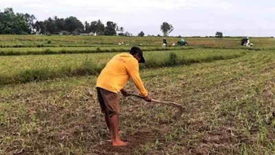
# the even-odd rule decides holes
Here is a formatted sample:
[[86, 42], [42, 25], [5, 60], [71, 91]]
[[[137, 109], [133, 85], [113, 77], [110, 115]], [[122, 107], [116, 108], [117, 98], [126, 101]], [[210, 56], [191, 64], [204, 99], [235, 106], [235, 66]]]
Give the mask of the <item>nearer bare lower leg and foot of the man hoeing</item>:
[[113, 146], [125, 146], [127, 143], [120, 140], [118, 135], [118, 114], [110, 118], [110, 132], [112, 136]]

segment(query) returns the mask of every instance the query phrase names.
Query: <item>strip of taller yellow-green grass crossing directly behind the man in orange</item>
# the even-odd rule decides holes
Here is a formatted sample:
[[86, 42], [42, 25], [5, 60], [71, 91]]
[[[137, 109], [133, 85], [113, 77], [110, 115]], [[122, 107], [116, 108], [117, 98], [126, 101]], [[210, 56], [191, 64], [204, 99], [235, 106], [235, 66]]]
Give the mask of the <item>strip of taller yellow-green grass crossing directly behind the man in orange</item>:
[[[217, 60], [234, 59], [243, 56], [245, 52], [216, 52], [206, 50], [179, 50], [175, 52], [150, 52], [144, 54], [146, 63], [140, 68], [163, 68], [175, 65], [190, 65], [192, 63], [207, 63]], [[66, 76], [97, 75], [104, 65], [114, 56], [110, 54], [74, 54], [61, 56], [5, 56], [2, 63], [3, 74], [0, 84], [27, 83], [30, 81], [45, 81], [47, 79], [64, 78]], [[91, 58], [89, 58], [91, 57]], [[98, 60], [100, 59], [100, 60]], [[12, 63], [14, 61], [14, 63]], [[17, 67], [15, 67], [17, 63]], [[36, 65], [35, 65], [36, 64]], [[9, 70], [9, 68], [16, 68]]]

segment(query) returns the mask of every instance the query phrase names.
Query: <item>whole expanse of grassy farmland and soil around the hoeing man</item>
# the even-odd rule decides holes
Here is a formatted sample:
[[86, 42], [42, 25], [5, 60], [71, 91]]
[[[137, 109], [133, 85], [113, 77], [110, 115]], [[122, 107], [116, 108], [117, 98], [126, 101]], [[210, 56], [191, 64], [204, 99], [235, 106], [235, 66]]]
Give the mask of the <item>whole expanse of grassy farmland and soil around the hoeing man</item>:
[[[252, 48], [239, 38], [186, 41], [0, 36], [0, 154], [275, 154], [275, 39], [252, 38]], [[175, 121], [173, 107], [120, 94], [129, 146], [113, 148], [94, 86], [132, 45], [144, 49], [140, 74], [152, 98], [185, 110]], [[131, 82], [126, 90], [137, 93]]]

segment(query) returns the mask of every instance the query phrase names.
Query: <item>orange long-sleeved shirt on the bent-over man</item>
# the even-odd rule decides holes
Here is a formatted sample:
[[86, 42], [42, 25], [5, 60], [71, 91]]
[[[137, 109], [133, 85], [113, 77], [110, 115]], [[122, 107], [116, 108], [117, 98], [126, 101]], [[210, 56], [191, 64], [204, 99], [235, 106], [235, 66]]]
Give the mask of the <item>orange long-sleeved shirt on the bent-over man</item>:
[[118, 93], [126, 85], [129, 77], [140, 90], [140, 94], [147, 96], [142, 80], [140, 79], [139, 65], [132, 54], [122, 53], [113, 56], [105, 68], [100, 72], [96, 87]]

